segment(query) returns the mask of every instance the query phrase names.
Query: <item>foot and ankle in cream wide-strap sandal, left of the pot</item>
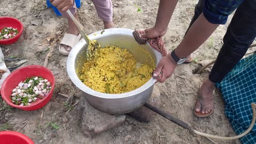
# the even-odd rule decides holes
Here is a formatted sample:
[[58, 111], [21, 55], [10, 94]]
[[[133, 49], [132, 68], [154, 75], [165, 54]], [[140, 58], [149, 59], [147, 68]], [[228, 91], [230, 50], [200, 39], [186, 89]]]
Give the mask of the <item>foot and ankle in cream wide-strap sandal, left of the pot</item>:
[[[74, 14], [74, 17], [79, 22], [77, 14]], [[64, 35], [60, 42], [59, 51], [63, 55], [68, 55], [71, 51], [72, 47], [78, 43], [81, 35], [79, 34], [79, 30], [76, 28], [75, 23], [68, 18], [68, 30], [67, 34]]]

